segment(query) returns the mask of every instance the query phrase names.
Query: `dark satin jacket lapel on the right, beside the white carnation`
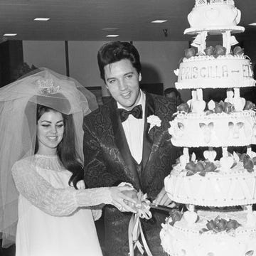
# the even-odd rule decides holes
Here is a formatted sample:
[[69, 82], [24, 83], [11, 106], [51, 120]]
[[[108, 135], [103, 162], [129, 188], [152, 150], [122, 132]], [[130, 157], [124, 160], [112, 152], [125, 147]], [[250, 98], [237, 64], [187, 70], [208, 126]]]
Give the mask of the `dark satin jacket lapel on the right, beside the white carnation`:
[[142, 151], [142, 171], [146, 167], [146, 163], [149, 160], [149, 154], [151, 152], [151, 147], [153, 140], [149, 137], [149, 127], [150, 124], [147, 122], [147, 117], [154, 114], [154, 99], [151, 95], [146, 93], [146, 104], [145, 104], [145, 119], [144, 119], [144, 135], [143, 135], [143, 151]]

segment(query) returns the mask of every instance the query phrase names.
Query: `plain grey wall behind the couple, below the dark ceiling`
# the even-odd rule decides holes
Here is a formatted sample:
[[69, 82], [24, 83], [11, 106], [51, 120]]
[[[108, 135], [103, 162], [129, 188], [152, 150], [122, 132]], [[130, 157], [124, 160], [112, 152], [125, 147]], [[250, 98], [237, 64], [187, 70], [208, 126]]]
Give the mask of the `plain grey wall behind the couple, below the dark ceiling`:
[[[104, 82], [97, 68], [97, 50], [103, 41], [68, 41], [70, 77], [85, 87], [102, 86], [102, 95], [107, 95]], [[133, 42], [142, 61], [142, 82], [162, 82], [164, 87], [174, 87], [178, 62], [188, 42]], [[46, 67], [65, 74], [64, 41], [23, 41], [23, 58], [28, 65]], [[190, 97], [181, 91], [185, 99]]]

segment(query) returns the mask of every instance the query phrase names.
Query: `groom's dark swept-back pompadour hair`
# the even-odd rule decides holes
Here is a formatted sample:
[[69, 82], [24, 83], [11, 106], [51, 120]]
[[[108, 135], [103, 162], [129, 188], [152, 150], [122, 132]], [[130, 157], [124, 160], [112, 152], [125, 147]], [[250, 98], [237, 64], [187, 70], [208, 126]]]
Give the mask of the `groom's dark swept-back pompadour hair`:
[[97, 53], [100, 77], [105, 81], [105, 65], [124, 59], [130, 60], [137, 73], [141, 73], [142, 65], [139, 60], [139, 53], [132, 43], [114, 41], [103, 45]]

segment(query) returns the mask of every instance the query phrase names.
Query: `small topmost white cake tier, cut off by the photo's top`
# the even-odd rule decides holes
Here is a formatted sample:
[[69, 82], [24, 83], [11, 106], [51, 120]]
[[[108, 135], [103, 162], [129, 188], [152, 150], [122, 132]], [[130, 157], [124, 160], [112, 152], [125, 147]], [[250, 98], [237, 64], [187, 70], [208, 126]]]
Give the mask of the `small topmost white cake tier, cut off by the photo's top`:
[[188, 14], [188, 22], [193, 30], [233, 28], [238, 25], [240, 18], [241, 12], [235, 8], [232, 0], [213, 0], [210, 3], [207, 0], [201, 0]]

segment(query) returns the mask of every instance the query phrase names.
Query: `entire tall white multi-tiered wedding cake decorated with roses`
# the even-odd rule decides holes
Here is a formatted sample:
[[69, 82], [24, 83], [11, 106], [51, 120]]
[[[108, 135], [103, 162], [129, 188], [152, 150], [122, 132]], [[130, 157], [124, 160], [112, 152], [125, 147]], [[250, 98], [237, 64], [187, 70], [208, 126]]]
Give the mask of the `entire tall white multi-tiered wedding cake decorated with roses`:
[[[255, 105], [240, 97], [241, 87], [255, 86], [250, 59], [233, 33], [240, 11], [233, 0], [196, 0], [188, 21], [195, 34], [176, 70], [178, 89], [191, 89], [192, 98], [178, 106], [170, 122], [171, 142], [183, 146], [165, 188], [171, 200], [188, 210], [171, 211], [163, 224], [161, 243], [171, 256], [256, 256], [256, 144]], [[208, 34], [222, 34], [223, 45], [206, 46]], [[203, 89], [226, 88], [223, 101], [205, 102]], [[229, 146], [246, 146], [244, 154]], [[190, 147], [206, 147], [204, 160], [189, 154]], [[222, 156], [216, 160], [216, 151]], [[198, 210], [200, 208], [201, 210]]]

